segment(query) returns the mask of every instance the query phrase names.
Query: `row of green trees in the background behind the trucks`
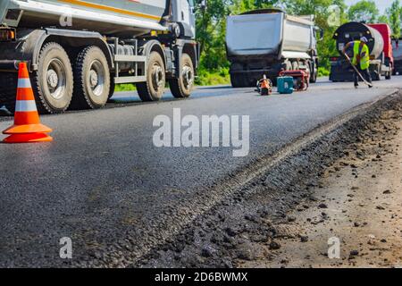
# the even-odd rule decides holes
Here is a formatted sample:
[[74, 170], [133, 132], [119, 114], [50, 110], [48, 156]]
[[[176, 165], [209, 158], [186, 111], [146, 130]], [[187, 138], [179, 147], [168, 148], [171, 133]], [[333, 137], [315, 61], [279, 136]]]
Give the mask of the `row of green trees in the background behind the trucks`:
[[[196, 0], [197, 5], [202, 2], [203, 0]], [[315, 15], [316, 25], [324, 31], [322, 41], [318, 43], [318, 51], [320, 71], [325, 73], [330, 68], [329, 58], [338, 53], [332, 39], [338, 26], [328, 21], [334, 17], [331, 7], [337, 7], [335, 17], [338, 18], [339, 24], [348, 21], [385, 22], [393, 30], [393, 37], [400, 37], [402, 6], [399, 0], [394, 0], [382, 15], [372, 0], [362, 0], [349, 7], [344, 0], [208, 0], [205, 9], [197, 10], [197, 40], [201, 49], [198, 83], [221, 83], [207, 82], [208, 79], [204, 79], [206, 82], [203, 82], [203, 78], [211, 74], [213, 76], [210, 78], [213, 79], [216, 77], [227, 79], [229, 71], [225, 48], [227, 16], [264, 8], [280, 8], [290, 15]]]

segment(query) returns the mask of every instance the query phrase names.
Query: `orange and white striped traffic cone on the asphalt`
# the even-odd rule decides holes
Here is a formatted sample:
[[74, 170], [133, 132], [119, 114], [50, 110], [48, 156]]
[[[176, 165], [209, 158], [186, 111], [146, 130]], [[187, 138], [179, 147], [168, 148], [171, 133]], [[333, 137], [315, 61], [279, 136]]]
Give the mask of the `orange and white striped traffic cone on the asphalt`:
[[50, 128], [39, 121], [35, 97], [30, 86], [27, 63], [20, 63], [14, 125], [3, 131], [4, 134], [11, 134], [3, 142], [28, 143], [52, 141], [53, 139], [46, 134], [51, 131]]

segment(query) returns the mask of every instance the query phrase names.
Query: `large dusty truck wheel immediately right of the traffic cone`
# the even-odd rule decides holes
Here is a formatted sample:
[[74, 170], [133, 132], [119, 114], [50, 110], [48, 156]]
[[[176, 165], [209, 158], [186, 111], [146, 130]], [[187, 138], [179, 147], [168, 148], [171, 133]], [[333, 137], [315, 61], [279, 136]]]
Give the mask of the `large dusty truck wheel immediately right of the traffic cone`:
[[39, 54], [38, 71], [32, 74], [38, 112], [63, 113], [71, 103], [73, 76], [69, 56], [57, 43], [47, 43]]

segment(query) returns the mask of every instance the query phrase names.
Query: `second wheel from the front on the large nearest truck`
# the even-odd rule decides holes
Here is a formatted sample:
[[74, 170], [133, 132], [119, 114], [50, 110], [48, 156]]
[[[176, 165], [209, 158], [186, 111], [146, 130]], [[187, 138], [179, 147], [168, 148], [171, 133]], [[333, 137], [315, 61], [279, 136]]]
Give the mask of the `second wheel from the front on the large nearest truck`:
[[157, 101], [163, 96], [166, 74], [162, 56], [152, 52], [148, 57], [147, 82], [138, 82], [138, 96], [142, 101]]

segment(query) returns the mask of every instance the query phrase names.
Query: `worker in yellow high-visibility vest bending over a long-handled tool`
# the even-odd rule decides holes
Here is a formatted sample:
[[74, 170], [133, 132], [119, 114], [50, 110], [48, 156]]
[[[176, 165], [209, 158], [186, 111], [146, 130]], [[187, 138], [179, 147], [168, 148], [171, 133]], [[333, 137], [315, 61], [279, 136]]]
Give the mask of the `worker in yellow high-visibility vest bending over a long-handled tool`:
[[[357, 71], [364, 77], [364, 80], [367, 80], [369, 83], [372, 83], [372, 76], [369, 71], [370, 67], [370, 50], [367, 46], [367, 38], [362, 37], [360, 40], [349, 42], [345, 48], [343, 49], [343, 53], [345, 54], [348, 48], [353, 48], [353, 59], [352, 64], [356, 66]], [[359, 75], [355, 71], [355, 88], [359, 86]], [[373, 88], [373, 86], [369, 86], [369, 88]]]

